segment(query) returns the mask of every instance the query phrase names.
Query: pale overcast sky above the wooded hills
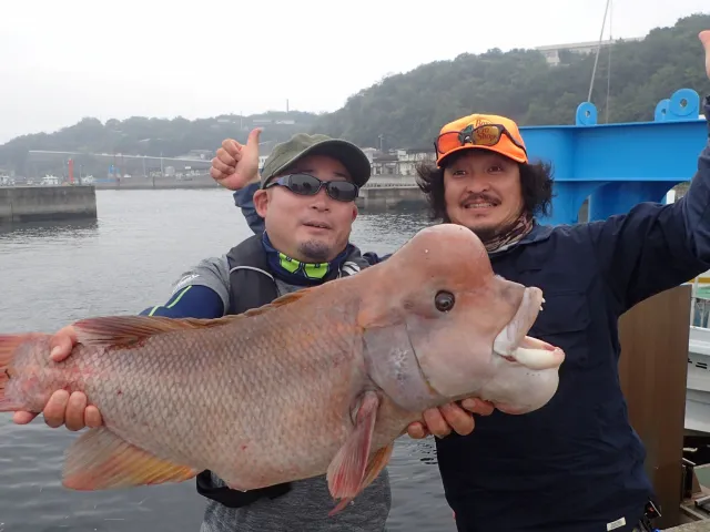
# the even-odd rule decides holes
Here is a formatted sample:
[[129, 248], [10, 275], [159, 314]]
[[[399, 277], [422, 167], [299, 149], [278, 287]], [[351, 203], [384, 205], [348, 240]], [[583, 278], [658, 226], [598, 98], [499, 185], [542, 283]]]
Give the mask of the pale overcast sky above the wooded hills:
[[[615, 0], [612, 37], [710, 12], [708, 1]], [[285, 109], [286, 99], [292, 110], [334, 111], [388, 73], [463, 52], [596, 41], [605, 6], [1, 0], [0, 143], [84, 116], [251, 114]]]

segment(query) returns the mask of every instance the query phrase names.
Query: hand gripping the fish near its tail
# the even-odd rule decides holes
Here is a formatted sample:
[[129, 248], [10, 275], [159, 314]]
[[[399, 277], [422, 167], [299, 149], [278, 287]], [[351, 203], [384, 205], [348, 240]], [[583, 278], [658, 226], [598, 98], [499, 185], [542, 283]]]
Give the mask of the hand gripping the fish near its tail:
[[[58, 330], [50, 341], [50, 359], [61, 362], [69, 357], [77, 342], [77, 330], [72, 326]], [[33, 412], [18, 411], [12, 420], [17, 424], [27, 424], [37, 416]], [[69, 395], [65, 390], [57, 390], [47, 401], [42, 416], [44, 422], [53, 429], [65, 424], [69, 430], [77, 431], [85, 427], [97, 428], [103, 423], [99, 409], [87, 405], [87, 395], [81, 391]]]

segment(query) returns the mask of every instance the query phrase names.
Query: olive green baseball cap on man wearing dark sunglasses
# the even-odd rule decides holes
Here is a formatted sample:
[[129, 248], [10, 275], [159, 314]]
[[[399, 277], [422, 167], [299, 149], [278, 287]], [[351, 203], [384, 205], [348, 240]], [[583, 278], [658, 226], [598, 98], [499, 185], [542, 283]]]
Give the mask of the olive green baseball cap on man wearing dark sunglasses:
[[301, 157], [314, 154], [328, 155], [343, 163], [343, 166], [349, 172], [353, 183], [359, 187], [369, 180], [369, 160], [365, 152], [352, 142], [327, 135], [297, 133], [291, 140], [274, 146], [271, 155], [264, 162], [261, 187], [263, 188], [268, 180], [281, 174]]

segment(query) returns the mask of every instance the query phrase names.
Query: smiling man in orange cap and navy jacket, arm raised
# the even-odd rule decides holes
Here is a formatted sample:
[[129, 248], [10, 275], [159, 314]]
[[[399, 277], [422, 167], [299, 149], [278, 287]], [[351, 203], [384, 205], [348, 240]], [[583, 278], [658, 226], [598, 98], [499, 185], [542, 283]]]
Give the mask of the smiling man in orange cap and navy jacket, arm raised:
[[[710, 78], [710, 31], [699, 37]], [[710, 121], [710, 96], [703, 106]], [[544, 408], [525, 416], [496, 411], [470, 434], [436, 440], [457, 529], [651, 530], [655, 494], [620, 388], [617, 323], [636, 304], [710, 269], [710, 142], [674, 204], [641, 203], [605, 221], [555, 227], [536, 222], [550, 206], [549, 166], [528, 161], [515, 122], [464, 116], [445, 125], [435, 144], [436, 163], [418, 168], [433, 218], [469, 227], [496, 274], [542, 289], [544, 311], [529, 334], [566, 354], [558, 391]], [[248, 182], [239, 167], [248, 151], [236, 147], [242, 153], [234, 156], [234, 146], [223, 144], [212, 168], [232, 190]], [[235, 198], [248, 216], [250, 190]], [[256, 217], [251, 222], [261, 231]], [[409, 433], [423, 437], [424, 429]]]

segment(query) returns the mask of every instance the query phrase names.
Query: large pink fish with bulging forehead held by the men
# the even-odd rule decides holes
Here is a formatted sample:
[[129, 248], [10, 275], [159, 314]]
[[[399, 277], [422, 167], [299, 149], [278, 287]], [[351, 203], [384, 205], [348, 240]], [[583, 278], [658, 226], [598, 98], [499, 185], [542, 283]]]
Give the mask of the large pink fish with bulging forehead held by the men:
[[104, 427], [69, 448], [75, 490], [184, 481], [252, 490], [327, 473], [352, 501], [422, 412], [465, 397], [542, 407], [561, 350], [526, 337], [541, 291], [495, 276], [470, 231], [420, 231], [356, 276], [213, 320], [100, 317], [49, 360], [50, 336], [0, 336], [0, 411], [81, 390]]

